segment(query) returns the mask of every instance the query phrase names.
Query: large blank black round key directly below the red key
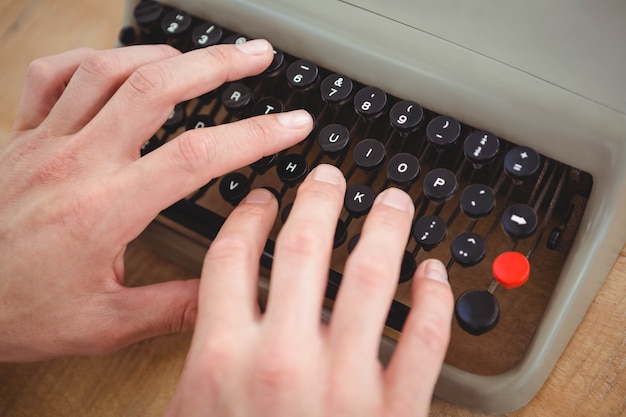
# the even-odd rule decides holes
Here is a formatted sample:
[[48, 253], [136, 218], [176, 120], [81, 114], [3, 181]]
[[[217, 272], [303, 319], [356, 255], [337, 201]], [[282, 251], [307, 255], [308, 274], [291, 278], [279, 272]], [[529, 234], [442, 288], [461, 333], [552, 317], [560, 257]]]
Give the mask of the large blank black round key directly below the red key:
[[500, 304], [489, 291], [469, 290], [456, 300], [454, 315], [463, 330], [480, 336], [498, 324]]

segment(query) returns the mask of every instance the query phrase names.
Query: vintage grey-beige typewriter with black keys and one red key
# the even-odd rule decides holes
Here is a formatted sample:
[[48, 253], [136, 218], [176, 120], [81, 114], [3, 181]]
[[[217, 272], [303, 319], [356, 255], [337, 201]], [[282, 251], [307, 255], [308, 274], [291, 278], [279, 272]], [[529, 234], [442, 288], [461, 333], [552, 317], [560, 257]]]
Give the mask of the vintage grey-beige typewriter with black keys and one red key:
[[197, 268], [249, 189], [273, 189], [284, 220], [306, 173], [335, 164], [348, 191], [331, 306], [373, 197], [403, 188], [416, 215], [381, 359], [410, 309], [416, 264], [437, 257], [457, 301], [436, 394], [492, 413], [519, 408], [626, 240], [625, 16], [624, 3], [565, 0], [129, 1], [123, 45], [186, 51], [263, 37], [276, 48], [263, 74], [176, 106], [142, 152], [267, 112], [305, 108], [316, 120], [297, 146], [163, 211], [146, 237]]

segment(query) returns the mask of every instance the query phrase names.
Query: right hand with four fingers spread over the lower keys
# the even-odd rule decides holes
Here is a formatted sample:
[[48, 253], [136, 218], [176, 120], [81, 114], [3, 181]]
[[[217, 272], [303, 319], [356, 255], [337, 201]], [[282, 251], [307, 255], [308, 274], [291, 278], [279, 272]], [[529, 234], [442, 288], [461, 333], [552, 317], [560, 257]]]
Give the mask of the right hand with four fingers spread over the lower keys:
[[345, 193], [341, 173], [315, 168], [276, 240], [269, 299], [256, 304], [258, 259], [277, 212], [253, 190], [205, 258], [198, 319], [166, 415], [425, 416], [450, 336], [446, 270], [422, 263], [413, 308], [386, 369], [378, 361], [414, 207], [381, 193], [348, 258], [330, 323], [321, 323], [333, 235]]

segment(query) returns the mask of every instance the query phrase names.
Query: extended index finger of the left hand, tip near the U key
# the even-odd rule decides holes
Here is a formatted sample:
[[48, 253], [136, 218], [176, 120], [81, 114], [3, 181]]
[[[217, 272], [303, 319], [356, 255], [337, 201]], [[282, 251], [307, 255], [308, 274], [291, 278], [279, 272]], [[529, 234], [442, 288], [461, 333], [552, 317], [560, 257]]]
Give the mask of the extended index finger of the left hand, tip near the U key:
[[132, 240], [161, 210], [212, 178], [301, 141], [312, 124], [311, 116], [299, 110], [187, 131], [109, 179], [118, 196], [112, 204], [124, 217], [108, 224], [125, 223], [116, 230], [127, 233], [121, 239]]

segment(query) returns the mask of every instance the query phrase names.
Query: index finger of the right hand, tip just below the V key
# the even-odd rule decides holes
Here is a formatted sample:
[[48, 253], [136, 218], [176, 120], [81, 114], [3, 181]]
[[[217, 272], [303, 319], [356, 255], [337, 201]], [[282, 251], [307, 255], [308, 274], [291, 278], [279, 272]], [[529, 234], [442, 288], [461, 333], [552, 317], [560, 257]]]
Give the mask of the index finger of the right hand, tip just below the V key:
[[205, 257], [196, 332], [223, 334], [258, 315], [259, 259], [276, 219], [278, 203], [265, 189], [252, 190], [228, 216]]

